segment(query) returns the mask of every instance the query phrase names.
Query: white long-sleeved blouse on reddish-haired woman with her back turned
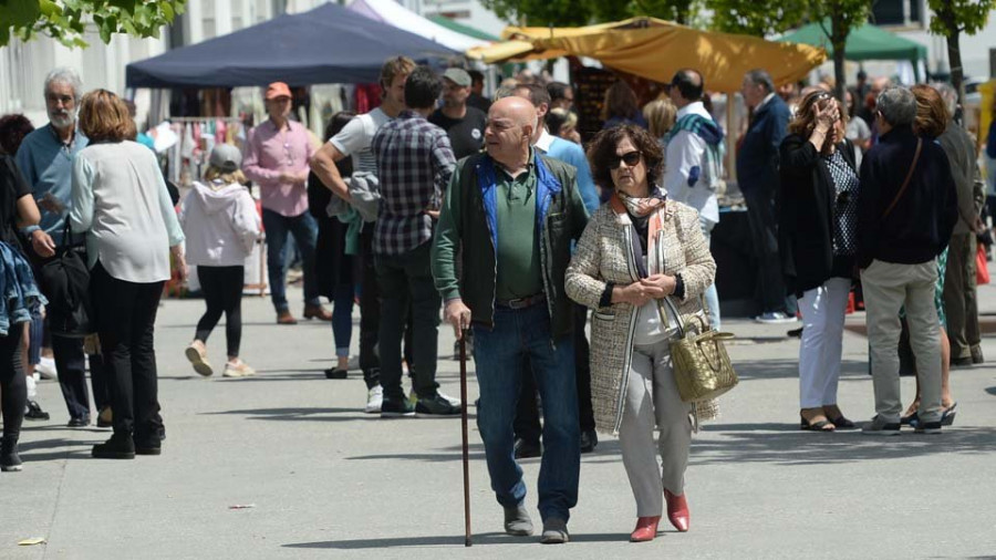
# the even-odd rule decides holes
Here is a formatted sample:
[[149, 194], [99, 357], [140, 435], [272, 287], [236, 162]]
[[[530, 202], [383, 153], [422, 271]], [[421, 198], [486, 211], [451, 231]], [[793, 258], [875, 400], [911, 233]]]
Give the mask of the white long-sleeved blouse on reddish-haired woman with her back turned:
[[169, 248], [184, 240], [151, 149], [132, 141], [91, 144], [73, 158], [73, 231], [86, 232], [90, 268], [112, 278], [169, 280]]

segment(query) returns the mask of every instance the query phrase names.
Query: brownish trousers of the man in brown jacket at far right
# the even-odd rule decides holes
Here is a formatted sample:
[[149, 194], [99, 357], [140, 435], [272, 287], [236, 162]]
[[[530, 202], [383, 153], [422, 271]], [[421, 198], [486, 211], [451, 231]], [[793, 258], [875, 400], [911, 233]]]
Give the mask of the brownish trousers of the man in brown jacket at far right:
[[944, 312], [947, 313], [947, 339], [951, 357], [972, 357], [978, 348], [978, 304], [975, 291], [975, 234], [954, 234], [947, 250], [944, 274]]

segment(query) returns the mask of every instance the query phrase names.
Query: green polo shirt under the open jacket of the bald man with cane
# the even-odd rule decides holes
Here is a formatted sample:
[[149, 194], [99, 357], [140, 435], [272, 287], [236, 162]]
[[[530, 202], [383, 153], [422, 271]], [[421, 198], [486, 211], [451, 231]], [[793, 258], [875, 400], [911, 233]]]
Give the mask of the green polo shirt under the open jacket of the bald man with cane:
[[[498, 166], [496, 166], [498, 167]], [[512, 178], [498, 167], [498, 278], [499, 300], [536, 295], [543, 290], [536, 230], [536, 164]]]

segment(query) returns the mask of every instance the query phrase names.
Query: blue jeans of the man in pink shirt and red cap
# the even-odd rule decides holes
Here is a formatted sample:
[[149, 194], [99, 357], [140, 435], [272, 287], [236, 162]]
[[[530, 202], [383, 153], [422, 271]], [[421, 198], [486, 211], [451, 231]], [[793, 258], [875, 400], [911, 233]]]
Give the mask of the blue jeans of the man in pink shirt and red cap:
[[318, 240], [318, 222], [307, 211], [299, 216], [283, 216], [263, 208], [263, 228], [267, 230], [267, 270], [273, 308], [278, 312], [288, 310], [284, 286], [287, 262], [283, 256], [288, 234], [294, 236], [304, 258], [304, 303], [321, 304], [314, 272], [314, 243]]

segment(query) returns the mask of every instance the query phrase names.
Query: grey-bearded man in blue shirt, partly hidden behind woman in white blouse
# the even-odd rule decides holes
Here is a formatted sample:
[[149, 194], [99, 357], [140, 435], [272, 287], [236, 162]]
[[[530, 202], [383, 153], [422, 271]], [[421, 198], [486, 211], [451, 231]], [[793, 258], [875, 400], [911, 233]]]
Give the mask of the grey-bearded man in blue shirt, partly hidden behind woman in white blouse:
[[[27, 252], [35, 263], [54, 256], [55, 247], [62, 242], [62, 228], [72, 197], [73, 156], [87, 144], [86, 136], [76, 129], [76, 111], [83, 96], [83, 82], [76, 71], [58, 68], [49, 72], [44, 95], [49, 124], [25, 136], [17, 154], [18, 167], [31, 186], [41, 210], [41, 222], [22, 230], [30, 240]], [[62, 396], [69, 409], [69, 426], [87, 426], [90, 397], [86, 392], [83, 339], [52, 336], [52, 351]], [[106, 404], [102, 365], [98, 355], [91, 356], [97, 409]]]

